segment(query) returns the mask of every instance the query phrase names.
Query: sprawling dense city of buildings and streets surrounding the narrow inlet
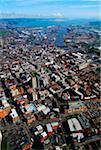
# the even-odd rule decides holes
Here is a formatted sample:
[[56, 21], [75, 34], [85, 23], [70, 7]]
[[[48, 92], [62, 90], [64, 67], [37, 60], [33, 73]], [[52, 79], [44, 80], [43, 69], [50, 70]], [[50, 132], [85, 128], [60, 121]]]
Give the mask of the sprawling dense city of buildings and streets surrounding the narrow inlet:
[[57, 29], [1, 28], [0, 128], [10, 150], [100, 148], [100, 31], [69, 26], [56, 47]]

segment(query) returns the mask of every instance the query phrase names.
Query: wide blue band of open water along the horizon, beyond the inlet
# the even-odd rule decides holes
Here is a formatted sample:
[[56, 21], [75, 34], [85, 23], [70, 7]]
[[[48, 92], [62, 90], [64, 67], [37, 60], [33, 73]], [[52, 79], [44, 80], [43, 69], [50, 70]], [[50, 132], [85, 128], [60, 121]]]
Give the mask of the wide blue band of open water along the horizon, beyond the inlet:
[[87, 24], [94, 19], [47, 19], [47, 18], [14, 18], [0, 19], [0, 23], [8, 24], [14, 27], [48, 27], [48, 26], [68, 26]]

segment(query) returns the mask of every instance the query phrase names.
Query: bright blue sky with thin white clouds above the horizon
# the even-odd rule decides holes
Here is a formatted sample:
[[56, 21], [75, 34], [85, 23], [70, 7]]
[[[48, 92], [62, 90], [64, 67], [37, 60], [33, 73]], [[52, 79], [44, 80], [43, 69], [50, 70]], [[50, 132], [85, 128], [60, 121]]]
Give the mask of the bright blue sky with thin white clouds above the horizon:
[[101, 18], [100, 0], [0, 0], [0, 18]]

